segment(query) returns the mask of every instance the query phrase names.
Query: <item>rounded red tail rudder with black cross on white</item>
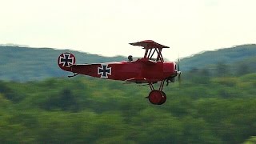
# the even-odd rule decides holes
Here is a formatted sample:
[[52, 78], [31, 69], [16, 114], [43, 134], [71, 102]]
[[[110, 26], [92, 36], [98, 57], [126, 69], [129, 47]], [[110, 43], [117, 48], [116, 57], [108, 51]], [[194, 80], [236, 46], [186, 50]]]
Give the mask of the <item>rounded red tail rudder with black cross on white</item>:
[[71, 66], [75, 63], [74, 54], [71, 53], [62, 53], [58, 56], [58, 66], [62, 70], [70, 71]]

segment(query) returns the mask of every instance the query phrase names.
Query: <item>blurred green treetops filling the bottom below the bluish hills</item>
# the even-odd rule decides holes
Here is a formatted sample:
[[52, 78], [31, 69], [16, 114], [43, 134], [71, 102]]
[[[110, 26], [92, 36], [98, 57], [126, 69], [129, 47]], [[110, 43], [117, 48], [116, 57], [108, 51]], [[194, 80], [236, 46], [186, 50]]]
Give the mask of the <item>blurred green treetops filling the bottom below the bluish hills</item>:
[[242, 143], [256, 135], [256, 74], [148, 86], [98, 78], [0, 82], [0, 143]]

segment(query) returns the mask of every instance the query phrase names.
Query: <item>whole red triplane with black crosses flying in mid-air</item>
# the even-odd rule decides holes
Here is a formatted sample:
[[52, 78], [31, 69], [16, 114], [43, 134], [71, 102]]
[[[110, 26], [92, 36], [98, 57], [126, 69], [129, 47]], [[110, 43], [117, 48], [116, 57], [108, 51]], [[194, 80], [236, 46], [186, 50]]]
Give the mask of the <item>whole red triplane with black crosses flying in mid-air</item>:
[[[164, 62], [162, 49], [169, 48], [157, 42], [146, 40], [130, 43], [133, 46], [142, 46], [146, 50], [143, 58], [133, 60], [132, 56], [124, 62], [106, 62], [94, 64], [74, 64], [73, 54], [63, 53], [58, 57], [58, 66], [62, 70], [78, 74], [89, 75], [96, 78], [106, 78], [125, 82], [148, 83], [151, 92], [148, 98], [152, 104], [162, 105], [166, 102], [166, 94], [162, 91], [164, 82], [167, 85], [174, 82], [174, 78], [180, 78], [181, 72], [175, 62]], [[160, 82], [158, 90], [153, 84]]]

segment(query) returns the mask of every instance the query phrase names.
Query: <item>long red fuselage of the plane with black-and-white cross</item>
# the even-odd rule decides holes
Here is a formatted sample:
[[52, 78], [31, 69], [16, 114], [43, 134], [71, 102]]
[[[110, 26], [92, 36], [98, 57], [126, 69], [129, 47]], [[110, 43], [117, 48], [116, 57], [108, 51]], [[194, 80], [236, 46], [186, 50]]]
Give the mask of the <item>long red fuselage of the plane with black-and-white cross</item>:
[[128, 82], [159, 82], [175, 74], [175, 62], [153, 62], [138, 59], [134, 62], [106, 62], [86, 65], [73, 65], [63, 70]]

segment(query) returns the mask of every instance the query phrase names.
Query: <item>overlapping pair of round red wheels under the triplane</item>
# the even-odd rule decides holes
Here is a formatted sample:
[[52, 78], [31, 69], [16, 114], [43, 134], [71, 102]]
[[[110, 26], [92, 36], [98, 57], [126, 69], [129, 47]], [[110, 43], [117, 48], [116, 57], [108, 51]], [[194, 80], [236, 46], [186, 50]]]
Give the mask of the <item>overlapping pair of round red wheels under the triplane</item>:
[[166, 97], [162, 94], [160, 90], [152, 90], [149, 94], [149, 101], [154, 105], [162, 105], [166, 102]]

